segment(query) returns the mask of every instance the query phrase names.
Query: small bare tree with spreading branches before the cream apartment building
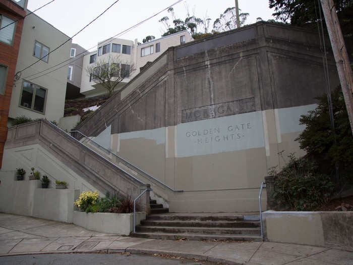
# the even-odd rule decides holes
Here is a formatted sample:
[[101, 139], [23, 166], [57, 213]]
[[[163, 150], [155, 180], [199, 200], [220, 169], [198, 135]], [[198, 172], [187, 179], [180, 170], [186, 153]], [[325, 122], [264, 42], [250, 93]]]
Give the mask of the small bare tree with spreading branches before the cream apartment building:
[[116, 86], [124, 78], [130, 77], [135, 71], [133, 64], [120, 60], [120, 57], [110, 58], [108, 62], [101, 60], [86, 69], [90, 81], [101, 85], [108, 90], [108, 96], [111, 97]]

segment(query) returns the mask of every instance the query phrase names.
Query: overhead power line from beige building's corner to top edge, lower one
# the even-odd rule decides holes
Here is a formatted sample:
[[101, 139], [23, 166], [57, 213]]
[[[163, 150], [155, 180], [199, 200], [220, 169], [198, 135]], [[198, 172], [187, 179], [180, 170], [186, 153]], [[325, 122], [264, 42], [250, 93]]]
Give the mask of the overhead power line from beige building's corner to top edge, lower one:
[[[129, 32], [130, 30], [132, 30], [132, 29], [138, 27], [139, 25], [145, 23], [146, 21], [150, 20], [151, 18], [153, 18], [153, 17], [159, 15], [159, 14], [162, 13], [163, 11], [168, 10], [169, 8], [171, 8], [171, 7], [173, 7], [173, 6], [177, 5], [177, 4], [179, 4], [179, 3], [182, 2], [182, 1], [183, 1], [183, 0], [178, 0], [177, 2], [174, 2], [172, 5], [166, 7], [165, 9], [159, 11], [158, 13], [156, 13], [156, 14], [154, 14], [154, 15], [152, 15], [152, 16], [146, 18], [145, 20], [142, 20], [141, 22], [135, 24], [134, 26], [132, 26], [132, 27], [130, 27], [130, 28], [128, 28], [128, 29], [126, 29], [126, 30], [124, 30], [124, 31], [122, 31], [122, 32], [120, 32], [120, 33], [117, 33], [116, 35], [114, 35], [114, 36], [112, 36], [112, 37], [110, 37], [110, 38], [104, 40], [103, 42], [99, 43], [99, 45], [104, 45], [105, 43], [109, 42], [111, 39], [113, 39], [113, 38], [115, 38], [115, 37], [117, 37], [117, 36], [121, 36], [121, 35], [125, 34], [126, 32]], [[92, 46], [92, 47], [90, 47], [88, 50], [93, 49], [93, 48], [95, 48], [95, 47], [97, 47], [97, 46], [98, 46], [98, 44], [97, 44], [97, 45], [94, 45], [94, 46]], [[56, 65], [54, 65], [54, 66], [52, 66], [52, 67], [49, 67], [49, 68], [47, 68], [47, 69], [45, 69], [45, 70], [43, 70], [43, 71], [40, 71], [40, 72], [38, 72], [38, 73], [29, 75], [29, 76], [27, 76], [27, 77], [24, 77], [24, 79], [27, 79], [27, 78], [29, 78], [29, 77], [32, 77], [32, 76], [41, 74], [41, 73], [46, 72], [46, 71], [48, 71], [48, 70], [50, 70], [50, 69], [52, 69], [52, 68], [54, 68], [54, 67], [60, 66], [60, 65], [62, 65], [62, 64], [64, 64], [64, 63], [70, 61], [69, 63], [67, 63], [67, 64], [65, 64], [65, 65], [62, 65], [62, 66], [60, 66], [60, 67], [58, 67], [58, 68], [55, 68], [55, 69], [53, 69], [52, 71], [47, 72], [47, 73], [45, 73], [45, 74], [43, 74], [43, 75], [40, 75], [40, 76], [31, 78], [31, 79], [29, 79], [28, 81], [31, 81], [31, 80], [37, 79], [37, 78], [39, 78], [39, 77], [42, 77], [42, 76], [44, 76], [44, 75], [50, 74], [50, 73], [52, 73], [52, 72], [54, 72], [54, 71], [56, 71], [56, 70], [58, 70], [58, 69], [61, 69], [61, 68], [65, 67], [65, 66], [71, 64], [72, 62], [75, 62], [75, 61], [79, 60], [81, 57], [84, 56], [85, 53], [86, 53], [86, 51], [83, 51], [83, 52], [81, 52], [80, 54], [78, 54], [78, 55], [76, 56], [77, 58], [76, 58], [75, 60], [72, 60], [72, 58], [67, 59], [67, 60], [65, 60], [65, 61], [63, 61], [63, 62], [61, 62], [61, 63], [58, 63], [58, 64], [56, 64]]]

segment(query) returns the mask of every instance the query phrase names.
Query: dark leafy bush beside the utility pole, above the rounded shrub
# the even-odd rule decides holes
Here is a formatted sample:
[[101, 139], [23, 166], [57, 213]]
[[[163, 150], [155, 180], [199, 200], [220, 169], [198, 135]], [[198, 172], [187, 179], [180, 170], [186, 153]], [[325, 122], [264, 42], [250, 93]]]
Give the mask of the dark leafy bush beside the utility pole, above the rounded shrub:
[[[320, 172], [334, 175], [339, 165], [341, 177], [353, 183], [353, 137], [340, 87], [331, 93], [335, 131], [331, 128], [327, 94], [317, 98], [318, 107], [302, 115], [300, 124], [306, 125], [296, 139], [320, 166]], [[336, 144], [335, 144], [336, 140]]]

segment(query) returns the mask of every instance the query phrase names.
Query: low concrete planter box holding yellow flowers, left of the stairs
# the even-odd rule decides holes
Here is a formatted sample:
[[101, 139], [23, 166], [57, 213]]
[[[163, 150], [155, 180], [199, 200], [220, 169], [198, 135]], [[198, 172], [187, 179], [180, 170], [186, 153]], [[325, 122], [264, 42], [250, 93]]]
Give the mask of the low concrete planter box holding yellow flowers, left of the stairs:
[[[145, 213], [136, 213], [136, 225], [144, 219]], [[75, 210], [73, 223], [89, 230], [128, 236], [134, 231], [134, 214], [86, 213]]]

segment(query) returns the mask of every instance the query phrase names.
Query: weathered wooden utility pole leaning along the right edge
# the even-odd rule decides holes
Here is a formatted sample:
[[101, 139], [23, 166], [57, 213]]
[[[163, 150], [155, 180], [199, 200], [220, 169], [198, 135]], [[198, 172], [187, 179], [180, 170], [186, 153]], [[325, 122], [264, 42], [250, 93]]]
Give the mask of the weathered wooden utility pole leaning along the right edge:
[[347, 49], [339, 25], [336, 8], [332, 0], [320, 0], [328, 35], [330, 37], [337, 72], [346, 105], [350, 129], [353, 134], [353, 73], [350, 68]]

